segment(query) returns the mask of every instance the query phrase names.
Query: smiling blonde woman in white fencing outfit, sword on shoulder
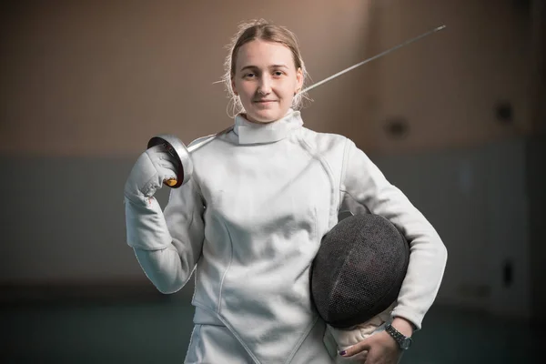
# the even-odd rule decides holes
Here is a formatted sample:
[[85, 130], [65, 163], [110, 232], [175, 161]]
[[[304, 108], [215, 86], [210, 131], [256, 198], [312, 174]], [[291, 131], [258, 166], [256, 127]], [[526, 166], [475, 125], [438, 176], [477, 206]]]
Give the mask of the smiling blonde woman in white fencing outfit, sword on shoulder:
[[[354, 355], [396, 363], [397, 339], [420, 329], [438, 292], [447, 258], [440, 237], [348, 137], [303, 126], [306, 69], [288, 29], [242, 26], [225, 81], [234, 126], [192, 151], [193, 177], [165, 210], [153, 195], [176, 168], [160, 148], [138, 158], [125, 190], [127, 243], [147, 277], [173, 293], [196, 270], [185, 362], [326, 364]], [[410, 243], [410, 265], [388, 313], [401, 337], [387, 329], [338, 353], [326, 344], [308, 277], [344, 210], [388, 218]], [[362, 338], [358, 329], [348, 335]]]

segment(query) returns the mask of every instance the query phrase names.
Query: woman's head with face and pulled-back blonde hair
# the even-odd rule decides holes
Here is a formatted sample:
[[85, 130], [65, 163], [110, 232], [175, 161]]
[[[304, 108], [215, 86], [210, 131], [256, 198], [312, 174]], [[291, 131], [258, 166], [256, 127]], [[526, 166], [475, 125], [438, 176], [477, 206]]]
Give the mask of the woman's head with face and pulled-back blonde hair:
[[225, 66], [227, 91], [248, 121], [269, 123], [300, 108], [307, 71], [287, 28], [267, 22], [241, 26]]

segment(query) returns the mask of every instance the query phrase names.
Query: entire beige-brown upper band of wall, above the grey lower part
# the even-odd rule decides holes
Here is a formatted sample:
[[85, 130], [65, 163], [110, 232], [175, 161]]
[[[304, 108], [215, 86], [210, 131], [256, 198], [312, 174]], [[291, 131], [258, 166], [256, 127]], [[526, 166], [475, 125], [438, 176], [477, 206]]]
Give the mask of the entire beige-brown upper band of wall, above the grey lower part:
[[[0, 152], [133, 155], [231, 123], [224, 45], [242, 20], [297, 35], [314, 81], [438, 25], [448, 28], [311, 92], [307, 126], [367, 151], [479, 144], [530, 128], [529, 35], [511, 0], [49, 1], [5, 5]], [[515, 125], [492, 107], [509, 99]], [[404, 116], [393, 141], [384, 121]]]

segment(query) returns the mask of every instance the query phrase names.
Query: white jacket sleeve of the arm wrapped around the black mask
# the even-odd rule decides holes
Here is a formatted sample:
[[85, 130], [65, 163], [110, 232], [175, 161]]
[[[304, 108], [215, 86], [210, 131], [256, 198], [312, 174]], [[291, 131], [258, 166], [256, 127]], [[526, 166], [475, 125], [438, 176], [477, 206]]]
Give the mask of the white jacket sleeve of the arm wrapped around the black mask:
[[410, 242], [410, 265], [392, 317], [409, 320], [416, 329], [438, 294], [447, 249], [430, 222], [383, 176], [351, 140], [345, 147], [341, 174], [342, 205], [365, 207], [389, 219]]

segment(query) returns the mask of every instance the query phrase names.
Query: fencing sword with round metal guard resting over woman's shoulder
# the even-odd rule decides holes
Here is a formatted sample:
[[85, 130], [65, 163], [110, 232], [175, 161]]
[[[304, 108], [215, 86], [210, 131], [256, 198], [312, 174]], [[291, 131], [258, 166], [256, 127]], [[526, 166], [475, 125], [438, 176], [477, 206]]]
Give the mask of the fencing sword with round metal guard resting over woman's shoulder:
[[[353, 69], [359, 67], [359, 66], [363, 66], [363, 65], [366, 65], [367, 63], [373, 61], [373, 60], [376, 60], [382, 56], [386, 56], [388, 55], [389, 53], [392, 53], [396, 50], [398, 50], [399, 48], [402, 48], [406, 45], [410, 45], [411, 43], [414, 43], [414, 42], [417, 42], [419, 41], [420, 39], [424, 38], [425, 36], [428, 36], [428, 35], [431, 35], [431, 34], [434, 34], [436, 32], [439, 32], [440, 30], [443, 30], [446, 28], [446, 25], [440, 25], [434, 29], [431, 29], [429, 30], [428, 32], [426, 33], [423, 33], [421, 35], [418, 35], [418, 36], [415, 36], [403, 43], [400, 43], [399, 45], [395, 45], [389, 49], [387, 49], [386, 51], [383, 51], [381, 53], [379, 53], [378, 55], [376, 56], [372, 56], [368, 59], [365, 59], [364, 61], [362, 62], [359, 62], [358, 64], [356, 65], [353, 65], [353, 66], [349, 66], [347, 68], [345, 68], [344, 70], [341, 70], [339, 71], [338, 73], [332, 75], [332, 76], [329, 76], [329, 77], [326, 77], [325, 79], [311, 85], [311, 86], [308, 86], [306, 88], [304, 88], [303, 90], [299, 91], [298, 94], [301, 94], [301, 93], [305, 93], [305, 92], [308, 92], [310, 90], [312, 90], [313, 88], [315, 87], [318, 87], [318, 86], [321, 86], [323, 84], [326, 84], [327, 82], [333, 80], [334, 78], [337, 78], [339, 76], [342, 76], [346, 73], [348, 73], [349, 71], [352, 71]], [[208, 142], [210, 142], [211, 140], [215, 139], [217, 136], [221, 136], [227, 132], [229, 132], [231, 129], [233, 128], [233, 126], [229, 126], [227, 127], [226, 129], [212, 135], [212, 136], [207, 136], [205, 138], [203, 138], [202, 140], [198, 141], [196, 144], [194, 145], [191, 145], [189, 147], [186, 147], [184, 145], [184, 143], [179, 139], [177, 138], [177, 136], [173, 136], [173, 135], [170, 135], [170, 134], [162, 134], [162, 135], [158, 135], [158, 136], [153, 136], [147, 143], [147, 147], [150, 148], [150, 147], [155, 147], [157, 145], [163, 145], [166, 149], [167, 149], [167, 152], [175, 158], [175, 160], [177, 161], [177, 178], [168, 178], [164, 181], [164, 183], [168, 186], [168, 187], [173, 187], [173, 188], [177, 188], [177, 187], [180, 187], [182, 185], [184, 185], [185, 183], [187, 183], [187, 181], [189, 181], [189, 179], [191, 178], [192, 174], [193, 174], [193, 163], [191, 161], [191, 157], [190, 157], [190, 154], [195, 151], [198, 147], [203, 147], [204, 145], [206, 145]]]

